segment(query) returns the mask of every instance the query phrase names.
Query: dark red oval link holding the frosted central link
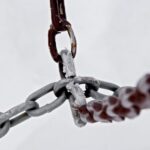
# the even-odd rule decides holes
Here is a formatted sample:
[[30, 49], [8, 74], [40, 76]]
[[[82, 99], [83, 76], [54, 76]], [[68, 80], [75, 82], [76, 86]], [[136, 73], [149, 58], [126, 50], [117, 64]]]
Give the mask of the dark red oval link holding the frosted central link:
[[[76, 50], [77, 50], [77, 42], [76, 42], [76, 38], [75, 38], [75, 34], [73, 32], [73, 29], [71, 27], [71, 25], [67, 24], [66, 25], [66, 29], [67, 32], [69, 34], [70, 37], [70, 41], [71, 41], [71, 53], [73, 58], [76, 55]], [[56, 40], [55, 40], [55, 36], [57, 34], [59, 34], [60, 32], [57, 31], [53, 25], [51, 25], [51, 28], [48, 32], [48, 45], [50, 48], [50, 53], [52, 55], [52, 58], [54, 59], [54, 61], [56, 62], [61, 62], [61, 56], [57, 51], [57, 46], [56, 46]]]

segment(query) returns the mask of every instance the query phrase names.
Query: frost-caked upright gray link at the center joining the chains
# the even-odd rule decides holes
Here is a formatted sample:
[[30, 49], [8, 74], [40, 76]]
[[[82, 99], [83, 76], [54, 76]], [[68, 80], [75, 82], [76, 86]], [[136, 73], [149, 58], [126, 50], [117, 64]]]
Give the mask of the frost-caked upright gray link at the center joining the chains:
[[[60, 69], [60, 76], [62, 77], [62, 79], [74, 79], [76, 77], [76, 70], [71, 53], [68, 50], [62, 50], [61, 60], [62, 68]], [[82, 89], [80, 89], [79, 86], [76, 86], [73, 81], [70, 81], [67, 85], [65, 85], [65, 89], [68, 93], [67, 95], [74, 123], [78, 127], [85, 126], [86, 123], [81, 120], [79, 112], [76, 109], [77, 106], [86, 104], [84, 92], [82, 91]]]

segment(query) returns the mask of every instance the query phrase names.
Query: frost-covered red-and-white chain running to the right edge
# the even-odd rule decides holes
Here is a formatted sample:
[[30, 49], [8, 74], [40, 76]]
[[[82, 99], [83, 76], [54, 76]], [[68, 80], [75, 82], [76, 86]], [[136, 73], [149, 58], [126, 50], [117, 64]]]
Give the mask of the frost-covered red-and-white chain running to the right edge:
[[112, 96], [78, 107], [81, 119], [91, 123], [132, 119], [147, 108], [150, 108], [150, 74], [142, 77], [136, 87], [119, 88]]

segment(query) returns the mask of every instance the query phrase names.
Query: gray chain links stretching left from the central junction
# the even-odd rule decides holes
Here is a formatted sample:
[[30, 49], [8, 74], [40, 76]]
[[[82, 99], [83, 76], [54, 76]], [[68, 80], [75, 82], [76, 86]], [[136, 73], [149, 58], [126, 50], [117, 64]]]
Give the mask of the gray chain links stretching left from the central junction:
[[55, 83], [48, 84], [37, 90], [27, 98], [25, 103], [17, 105], [5, 113], [0, 113], [0, 138], [9, 131], [10, 127], [16, 126], [17, 124], [29, 119], [31, 116], [43, 115], [60, 106], [66, 100], [65, 93], [62, 93], [62, 95], [54, 102], [46, 104], [41, 108], [39, 107], [39, 104], [35, 102], [40, 97], [53, 91], [54, 84]]

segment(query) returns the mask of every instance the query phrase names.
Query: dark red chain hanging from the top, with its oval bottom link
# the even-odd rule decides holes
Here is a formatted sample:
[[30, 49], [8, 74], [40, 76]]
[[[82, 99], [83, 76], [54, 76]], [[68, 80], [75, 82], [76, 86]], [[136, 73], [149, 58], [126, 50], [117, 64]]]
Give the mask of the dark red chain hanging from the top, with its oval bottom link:
[[52, 25], [48, 31], [48, 45], [50, 53], [56, 62], [61, 62], [56, 46], [56, 35], [67, 31], [71, 39], [71, 53], [73, 58], [76, 55], [77, 42], [71, 27], [67, 21], [64, 0], [50, 0]]

